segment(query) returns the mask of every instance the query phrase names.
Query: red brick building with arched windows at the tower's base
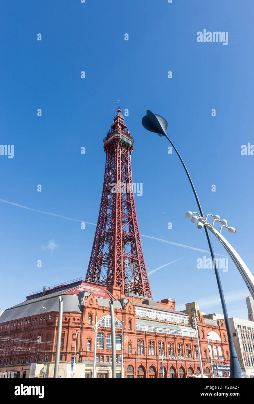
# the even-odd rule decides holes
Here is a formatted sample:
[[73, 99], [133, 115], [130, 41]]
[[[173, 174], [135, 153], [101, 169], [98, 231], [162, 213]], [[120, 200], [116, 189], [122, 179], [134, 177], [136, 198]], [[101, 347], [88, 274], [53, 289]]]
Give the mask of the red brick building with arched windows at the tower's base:
[[[121, 344], [123, 323], [124, 377], [162, 377], [164, 354], [165, 377], [199, 375], [197, 338], [191, 315], [198, 316], [199, 338], [204, 373], [212, 377], [207, 335], [214, 349], [212, 363], [229, 365], [229, 345], [223, 320], [202, 316], [196, 303], [186, 311], [176, 311], [175, 301], [160, 302], [123, 295], [120, 288], [106, 287], [84, 280], [36, 292], [27, 300], [6, 309], [0, 316], [0, 376], [52, 377], [57, 341], [59, 296], [63, 296], [61, 341], [61, 377], [92, 377], [97, 321], [96, 377], [111, 377], [111, 322], [109, 299], [115, 311], [116, 342]], [[193, 309], [193, 307], [194, 309]], [[71, 371], [76, 343], [76, 365]], [[117, 350], [117, 375], [121, 373], [121, 350]], [[46, 365], [46, 366], [44, 366]], [[31, 370], [32, 369], [32, 370]], [[46, 369], [46, 371], [45, 371]], [[45, 372], [45, 373], [44, 373]]]

